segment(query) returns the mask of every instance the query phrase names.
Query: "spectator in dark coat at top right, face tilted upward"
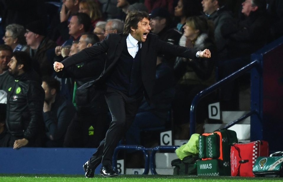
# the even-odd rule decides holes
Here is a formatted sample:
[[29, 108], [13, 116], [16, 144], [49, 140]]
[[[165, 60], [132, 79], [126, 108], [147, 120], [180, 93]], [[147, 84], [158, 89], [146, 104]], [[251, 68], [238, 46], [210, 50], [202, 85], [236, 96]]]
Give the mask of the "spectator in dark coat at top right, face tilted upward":
[[[229, 58], [248, 56], [263, 47], [269, 39], [269, 21], [265, 0], [246, 0], [237, 25], [221, 30], [228, 36]], [[247, 62], [248, 63], [248, 62]]]

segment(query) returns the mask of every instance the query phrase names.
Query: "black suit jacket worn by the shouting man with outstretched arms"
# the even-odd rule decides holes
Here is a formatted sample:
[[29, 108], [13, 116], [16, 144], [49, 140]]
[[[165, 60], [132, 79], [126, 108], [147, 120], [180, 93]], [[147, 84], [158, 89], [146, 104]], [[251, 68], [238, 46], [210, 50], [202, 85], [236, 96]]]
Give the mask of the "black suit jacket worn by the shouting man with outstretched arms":
[[[106, 63], [103, 72], [98, 79], [90, 81], [78, 89], [85, 89], [93, 84], [103, 84], [115, 68], [117, 61], [126, 44], [125, 34], [108, 34], [104, 40], [86, 48], [73, 56], [68, 57], [62, 64], [65, 67], [91, 59], [98, 54], [107, 53]], [[148, 34], [145, 42], [141, 43], [141, 77], [145, 89], [145, 96], [150, 99], [152, 89], [155, 83], [156, 59], [158, 54], [165, 56], [179, 56], [195, 59], [198, 50], [192, 50], [186, 47], [172, 45], [158, 39], [155, 34]]]

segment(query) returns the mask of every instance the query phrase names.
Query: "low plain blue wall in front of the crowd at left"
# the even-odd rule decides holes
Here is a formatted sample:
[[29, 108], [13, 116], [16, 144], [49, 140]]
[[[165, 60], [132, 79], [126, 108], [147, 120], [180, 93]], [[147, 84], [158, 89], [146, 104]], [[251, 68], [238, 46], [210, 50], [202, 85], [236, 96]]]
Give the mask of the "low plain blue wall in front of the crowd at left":
[[95, 151], [96, 148], [0, 148], [0, 173], [84, 175], [83, 164]]

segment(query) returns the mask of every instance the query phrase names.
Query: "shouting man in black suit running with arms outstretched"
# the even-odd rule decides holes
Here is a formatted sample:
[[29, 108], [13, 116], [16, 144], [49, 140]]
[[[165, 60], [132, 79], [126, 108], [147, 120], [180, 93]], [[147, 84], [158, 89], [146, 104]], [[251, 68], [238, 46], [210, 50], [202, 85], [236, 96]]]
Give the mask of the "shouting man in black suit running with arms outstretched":
[[150, 17], [145, 12], [132, 11], [126, 17], [123, 34], [108, 34], [101, 42], [70, 56], [61, 63], [55, 62], [55, 71], [107, 53], [104, 71], [98, 79], [79, 89], [95, 85], [105, 89], [105, 98], [112, 115], [106, 137], [83, 168], [85, 177], [91, 178], [94, 169], [102, 163], [102, 176], [116, 176], [112, 169], [112, 155], [117, 143], [134, 120], [143, 96], [150, 101], [155, 82], [158, 54], [182, 56], [190, 59], [210, 58], [210, 51], [195, 51], [171, 45], [149, 34]]

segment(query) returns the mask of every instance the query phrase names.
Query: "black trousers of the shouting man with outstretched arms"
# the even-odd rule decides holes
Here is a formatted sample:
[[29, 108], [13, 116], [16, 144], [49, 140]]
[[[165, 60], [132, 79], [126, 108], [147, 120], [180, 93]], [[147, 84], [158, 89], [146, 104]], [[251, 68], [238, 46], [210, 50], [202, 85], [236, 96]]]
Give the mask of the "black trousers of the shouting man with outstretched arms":
[[112, 116], [112, 122], [105, 138], [89, 160], [89, 167], [92, 169], [95, 169], [100, 163], [102, 163], [102, 166], [112, 166], [114, 150], [134, 121], [143, 94], [127, 96], [119, 90], [108, 87], [105, 98]]

